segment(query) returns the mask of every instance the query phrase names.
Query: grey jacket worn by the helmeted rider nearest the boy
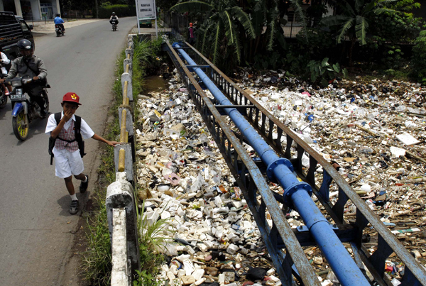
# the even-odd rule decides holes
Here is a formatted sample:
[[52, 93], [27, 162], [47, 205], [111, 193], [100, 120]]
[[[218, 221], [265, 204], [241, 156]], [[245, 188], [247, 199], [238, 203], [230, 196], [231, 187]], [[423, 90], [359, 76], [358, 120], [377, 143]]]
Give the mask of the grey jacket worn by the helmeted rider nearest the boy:
[[9, 74], [7, 74], [6, 79], [13, 79], [16, 75], [19, 74], [20, 77], [39, 77], [40, 79], [45, 79], [48, 76], [48, 70], [44, 65], [44, 62], [40, 57], [33, 55], [30, 60], [28, 60], [28, 66], [31, 69], [38, 71], [38, 75], [36, 75], [30, 68], [27, 67], [25, 62], [23, 62], [23, 57], [17, 57], [12, 62], [11, 69], [9, 70]]

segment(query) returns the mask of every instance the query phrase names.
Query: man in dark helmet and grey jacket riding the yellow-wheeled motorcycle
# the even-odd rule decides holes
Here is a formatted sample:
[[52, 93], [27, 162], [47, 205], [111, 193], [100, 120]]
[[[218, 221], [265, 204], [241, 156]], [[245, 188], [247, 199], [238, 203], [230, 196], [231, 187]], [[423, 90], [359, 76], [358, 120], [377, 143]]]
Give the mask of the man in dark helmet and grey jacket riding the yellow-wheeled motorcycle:
[[6, 79], [0, 79], [0, 83], [10, 80], [19, 74], [20, 77], [32, 78], [33, 82], [26, 84], [25, 91], [31, 97], [31, 100], [40, 106], [40, 115], [46, 116], [48, 111], [44, 108], [44, 99], [41, 97], [43, 89], [47, 84], [48, 70], [46, 70], [43, 60], [34, 55], [33, 43], [22, 39], [16, 43], [22, 57], [16, 57], [13, 60], [11, 69]]

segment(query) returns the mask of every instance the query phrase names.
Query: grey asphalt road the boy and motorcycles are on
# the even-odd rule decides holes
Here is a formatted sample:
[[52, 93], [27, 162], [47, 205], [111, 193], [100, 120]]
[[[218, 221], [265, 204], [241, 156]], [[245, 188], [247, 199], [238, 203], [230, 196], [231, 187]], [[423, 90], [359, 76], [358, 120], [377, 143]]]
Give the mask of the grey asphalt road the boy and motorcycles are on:
[[[136, 18], [120, 18], [113, 32], [109, 21], [67, 28], [35, 38], [35, 55], [48, 69], [50, 112], [61, 111], [63, 94], [75, 92], [82, 116], [95, 133], [102, 134], [111, 102], [117, 55]], [[47, 119], [31, 123], [28, 139], [13, 135], [10, 102], [0, 109], [0, 285], [68, 285], [64, 271], [72, 256], [79, 215], [68, 212], [70, 196], [65, 183], [50, 166]], [[99, 161], [99, 143], [86, 140], [84, 172], [92, 175]], [[94, 186], [89, 182], [89, 189]], [[74, 180], [76, 189], [80, 181]], [[80, 202], [84, 197], [78, 194]], [[79, 213], [81, 214], [81, 213]]]

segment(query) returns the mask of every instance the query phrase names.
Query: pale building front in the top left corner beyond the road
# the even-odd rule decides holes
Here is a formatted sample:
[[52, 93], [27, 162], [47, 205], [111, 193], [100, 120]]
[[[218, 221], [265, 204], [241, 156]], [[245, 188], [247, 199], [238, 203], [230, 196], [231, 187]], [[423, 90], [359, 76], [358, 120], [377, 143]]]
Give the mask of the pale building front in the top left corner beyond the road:
[[26, 20], [43, 21], [60, 13], [59, 0], [0, 0], [0, 11], [13, 12]]

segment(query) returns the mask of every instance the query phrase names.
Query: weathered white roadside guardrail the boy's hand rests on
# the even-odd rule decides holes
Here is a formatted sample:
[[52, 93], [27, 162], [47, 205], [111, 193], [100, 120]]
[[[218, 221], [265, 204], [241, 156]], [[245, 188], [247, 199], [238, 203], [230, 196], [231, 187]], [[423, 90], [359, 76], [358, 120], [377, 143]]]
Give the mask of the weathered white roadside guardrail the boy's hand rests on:
[[131, 286], [140, 268], [137, 216], [133, 194], [133, 114], [132, 94], [133, 36], [129, 35], [121, 75], [123, 103], [119, 106], [120, 144], [114, 147], [116, 182], [107, 188], [107, 216], [111, 238], [112, 286]]

